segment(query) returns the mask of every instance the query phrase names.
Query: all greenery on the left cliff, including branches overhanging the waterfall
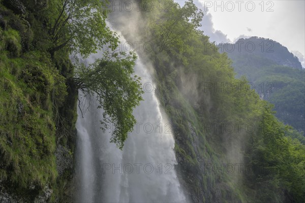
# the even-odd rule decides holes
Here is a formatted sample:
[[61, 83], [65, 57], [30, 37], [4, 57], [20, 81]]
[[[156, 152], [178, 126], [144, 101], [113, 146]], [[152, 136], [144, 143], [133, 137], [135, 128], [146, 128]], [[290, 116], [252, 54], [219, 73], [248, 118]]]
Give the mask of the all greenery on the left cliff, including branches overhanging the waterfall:
[[104, 3], [0, 2], [0, 184], [23, 201], [36, 201], [46, 187], [50, 201], [71, 201], [73, 166], [59, 168], [59, 157], [74, 152], [77, 90], [97, 95], [101, 122], [114, 123], [111, 142], [119, 148], [136, 122], [142, 90], [135, 54], [109, 51], [89, 66], [70, 60], [117, 47]]

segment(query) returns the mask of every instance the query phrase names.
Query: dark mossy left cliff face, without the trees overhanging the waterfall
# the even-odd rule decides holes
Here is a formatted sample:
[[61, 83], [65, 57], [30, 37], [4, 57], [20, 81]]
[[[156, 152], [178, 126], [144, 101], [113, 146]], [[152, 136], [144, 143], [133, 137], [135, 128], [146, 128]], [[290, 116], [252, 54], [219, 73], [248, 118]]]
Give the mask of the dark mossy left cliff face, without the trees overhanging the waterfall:
[[77, 117], [73, 66], [65, 50], [48, 53], [48, 1], [0, 6], [0, 201], [67, 200]]

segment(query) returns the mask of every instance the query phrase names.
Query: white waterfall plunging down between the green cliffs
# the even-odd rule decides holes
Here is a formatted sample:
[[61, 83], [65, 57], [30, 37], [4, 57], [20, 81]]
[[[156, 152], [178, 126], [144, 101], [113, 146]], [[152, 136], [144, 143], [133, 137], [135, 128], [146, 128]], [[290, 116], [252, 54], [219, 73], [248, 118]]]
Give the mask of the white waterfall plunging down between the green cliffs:
[[[90, 56], [87, 62], [93, 62], [95, 56]], [[142, 95], [144, 100], [134, 110], [138, 123], [129, 133], [123, 150], [109, 143], [112, 126], [105, 133], [100, 129], [103, 111], [97, 109], [95, 98], [83, 101], [82, 109], [86, 110], [83, 118], [78, 110], [78, 202], [186, 201], [174, 171], [176, 159], [170, 125], [150, 89], [151, 74], [140, 59], [135, 74], [146, 84], [146, 91]]]

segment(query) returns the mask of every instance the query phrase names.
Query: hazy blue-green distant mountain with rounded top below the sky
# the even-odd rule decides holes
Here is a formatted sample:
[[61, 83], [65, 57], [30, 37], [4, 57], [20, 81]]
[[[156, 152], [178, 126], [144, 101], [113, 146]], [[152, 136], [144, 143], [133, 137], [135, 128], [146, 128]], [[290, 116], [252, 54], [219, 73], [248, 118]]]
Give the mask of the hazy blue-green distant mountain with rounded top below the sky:
[[275, 105], [281, 121], [305, 131], [305, 72], [296, 56], [280, 43], [258, 37], [219, 47], [232, 59], [237, 78], [246, 76], [261, 98]]

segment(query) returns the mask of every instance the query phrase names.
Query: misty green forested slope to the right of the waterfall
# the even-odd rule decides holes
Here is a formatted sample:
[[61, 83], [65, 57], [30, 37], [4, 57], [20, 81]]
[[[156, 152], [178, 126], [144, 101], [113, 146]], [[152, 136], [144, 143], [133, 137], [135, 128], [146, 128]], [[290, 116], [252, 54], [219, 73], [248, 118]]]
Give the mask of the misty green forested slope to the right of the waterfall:
[[174, 131], [178, 173], [192, 201], [301, 202], [304, 145], [294, 139], [301, 135], [278, 121], [246, 78], [235, 78], [227, 54], [215, 51], [197, 29], [202, 12], [193, 1], [182, 8], [170, 5], [150, 12], [142, 7], [138, 17], [113, 16], [122, 16], [114, 22], [128, 41], [154, 45], [139, 54], [155, 67], [159, 99]]

